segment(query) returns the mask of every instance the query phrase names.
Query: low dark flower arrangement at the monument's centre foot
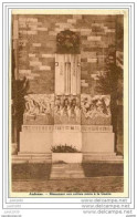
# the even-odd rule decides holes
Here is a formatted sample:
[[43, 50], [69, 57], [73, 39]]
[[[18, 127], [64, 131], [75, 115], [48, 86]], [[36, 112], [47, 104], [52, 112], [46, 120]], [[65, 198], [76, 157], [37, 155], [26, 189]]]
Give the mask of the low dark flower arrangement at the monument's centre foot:
[[80, 153], [75, 146], [72, 145], [56, 145], [52, 146], [51, 151], [53, 153]]

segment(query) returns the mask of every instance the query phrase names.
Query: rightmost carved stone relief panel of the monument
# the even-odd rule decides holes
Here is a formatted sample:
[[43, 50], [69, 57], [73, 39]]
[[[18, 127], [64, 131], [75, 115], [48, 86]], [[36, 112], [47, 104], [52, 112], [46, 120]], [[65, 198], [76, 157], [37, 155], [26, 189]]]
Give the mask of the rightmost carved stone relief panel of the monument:
[[110, 96], [89, 94], [81, 95], [83, 125], [110, 125]]

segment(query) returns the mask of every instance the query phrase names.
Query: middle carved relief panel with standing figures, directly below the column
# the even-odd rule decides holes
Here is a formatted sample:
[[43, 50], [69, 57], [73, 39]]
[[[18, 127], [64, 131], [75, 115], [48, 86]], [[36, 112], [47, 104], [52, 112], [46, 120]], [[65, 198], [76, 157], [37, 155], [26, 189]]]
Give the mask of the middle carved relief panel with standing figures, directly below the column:
[[55, 124], [81, 124], [80, 96], [55, 96]]

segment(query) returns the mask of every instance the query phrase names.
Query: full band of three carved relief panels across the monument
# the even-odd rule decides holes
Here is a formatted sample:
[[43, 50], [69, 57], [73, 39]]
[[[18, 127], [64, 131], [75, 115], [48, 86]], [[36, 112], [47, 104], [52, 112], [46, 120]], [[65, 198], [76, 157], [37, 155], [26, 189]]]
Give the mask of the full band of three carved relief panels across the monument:
[[110, 125], [110, 96], [29, 94], [24, 96], [24, 125]]

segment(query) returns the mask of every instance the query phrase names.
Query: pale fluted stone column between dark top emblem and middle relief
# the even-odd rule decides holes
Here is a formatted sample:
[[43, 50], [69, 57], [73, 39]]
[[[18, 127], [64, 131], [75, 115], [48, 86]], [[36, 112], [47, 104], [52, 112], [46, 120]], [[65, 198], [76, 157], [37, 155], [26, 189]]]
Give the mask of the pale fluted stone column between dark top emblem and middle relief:
[[80, 54], [55, 55], [55, 94], [76, 95], [81, 93]]

